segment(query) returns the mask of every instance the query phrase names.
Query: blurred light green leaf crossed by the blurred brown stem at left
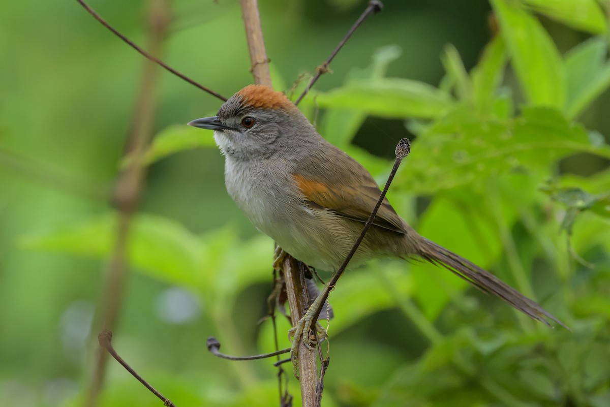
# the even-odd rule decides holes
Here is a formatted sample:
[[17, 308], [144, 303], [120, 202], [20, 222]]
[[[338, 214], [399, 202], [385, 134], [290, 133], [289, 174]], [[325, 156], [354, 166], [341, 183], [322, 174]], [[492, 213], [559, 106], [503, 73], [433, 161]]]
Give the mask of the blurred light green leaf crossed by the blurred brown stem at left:
[[[44, 235], [26, 236], [23, 247], [87, 257], [110, 257], [117, 215], [109, 213]], [[138, 214], [129, 232], [128, 258], [151, 277], [174, 284], [196, 285], [205, 251], [181, 224], [160, 216]]]

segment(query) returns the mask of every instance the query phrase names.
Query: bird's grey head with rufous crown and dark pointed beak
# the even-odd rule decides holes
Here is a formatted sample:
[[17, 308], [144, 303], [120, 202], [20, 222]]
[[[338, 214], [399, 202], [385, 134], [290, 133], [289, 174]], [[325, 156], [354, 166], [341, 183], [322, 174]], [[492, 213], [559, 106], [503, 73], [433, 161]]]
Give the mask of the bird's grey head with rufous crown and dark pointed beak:
[[188, 124], [214, 130], [223, 154], [238, 160], [268, 158], [277, 152], [291, 155], [303, 141], [321, 138], [285, 94], [264, 85], [243, 88], [224, 102], [217, 116]]

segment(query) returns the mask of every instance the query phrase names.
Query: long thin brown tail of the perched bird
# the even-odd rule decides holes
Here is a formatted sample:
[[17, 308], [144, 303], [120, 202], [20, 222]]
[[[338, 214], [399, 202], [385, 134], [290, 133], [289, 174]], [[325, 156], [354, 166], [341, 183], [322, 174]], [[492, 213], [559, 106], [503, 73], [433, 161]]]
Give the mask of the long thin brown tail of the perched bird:
[[472, 261], [468, 261], [456, 255], [456, 253], [439, 246], [435, 242], [422, 238], [420, 241], [420, 253], [418, 254], [432, 264], [445, 267], [445, 269], [468, 281], [468, 283], [471, 283], [481, 291], [500, 297], [533, 319], [544, 322], [548, 326], [551, 325], [547, 319], [551, 319], [567, 330], [570, 330], [559, 319], [545, 311], [533, 300], [530, 300], [516, 289], [504, 283], [500, 278], [481, 269], [481, 267], [472, 263]]

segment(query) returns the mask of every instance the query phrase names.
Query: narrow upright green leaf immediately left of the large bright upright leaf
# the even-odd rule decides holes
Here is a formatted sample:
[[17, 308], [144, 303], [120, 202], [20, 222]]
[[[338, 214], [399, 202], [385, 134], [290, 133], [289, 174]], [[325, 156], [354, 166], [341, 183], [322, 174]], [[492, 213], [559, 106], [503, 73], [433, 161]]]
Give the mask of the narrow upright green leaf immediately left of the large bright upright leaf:
[[472, 69], [473, 101], [478, 111], [486, 113], [495, 100], [496, 92], [504, 77], [506, 66], [506, 44], [500, 35], [496, 35], [485, 46], [483, 56]]

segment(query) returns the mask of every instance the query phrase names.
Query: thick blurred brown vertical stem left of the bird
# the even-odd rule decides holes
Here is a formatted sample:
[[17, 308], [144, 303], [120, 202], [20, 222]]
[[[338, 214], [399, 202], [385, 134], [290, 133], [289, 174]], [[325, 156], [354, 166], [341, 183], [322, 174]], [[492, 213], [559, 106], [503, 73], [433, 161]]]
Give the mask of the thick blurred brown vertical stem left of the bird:
[[[170, 24], [167, 0], [154, 0], [149, 12], [149, 46], [159, 53], [163, 38]], [[132, 131], [127, 136], [125, 155], [132, 155], [129, 165], [120, 173], [113, 192], [113, 204], [117, 208], [117, 232], [110, 264], [107, 267], [106, 288], [102, 297], [102, 330], [112, 330], [117, 322], [123, 296], [127, 269], [127, 246], [131, 235], [132, 219], [142, 195], [146, 166], [142, 165], [144, 153], [152, 134], [152, 121], [156, 107], [158, 69], [154, 63], [146, 62], [143, 68], [140, 91], [135, 104]], [[98, 404], [108, 358], [99, 349], [85, 405]]]

